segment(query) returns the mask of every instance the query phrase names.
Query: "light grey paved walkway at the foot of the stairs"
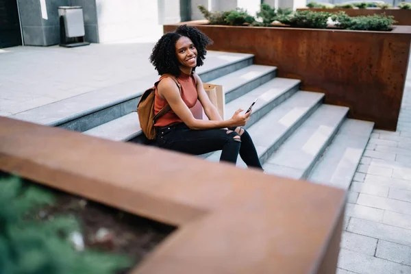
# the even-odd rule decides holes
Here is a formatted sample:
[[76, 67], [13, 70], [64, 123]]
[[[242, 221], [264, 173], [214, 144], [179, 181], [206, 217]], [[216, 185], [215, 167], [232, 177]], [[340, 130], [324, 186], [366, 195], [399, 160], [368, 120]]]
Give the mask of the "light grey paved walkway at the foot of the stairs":
[[374, 130], [351, 184], [338, 274], [411, 273], [411, 67], [397, 132]]

